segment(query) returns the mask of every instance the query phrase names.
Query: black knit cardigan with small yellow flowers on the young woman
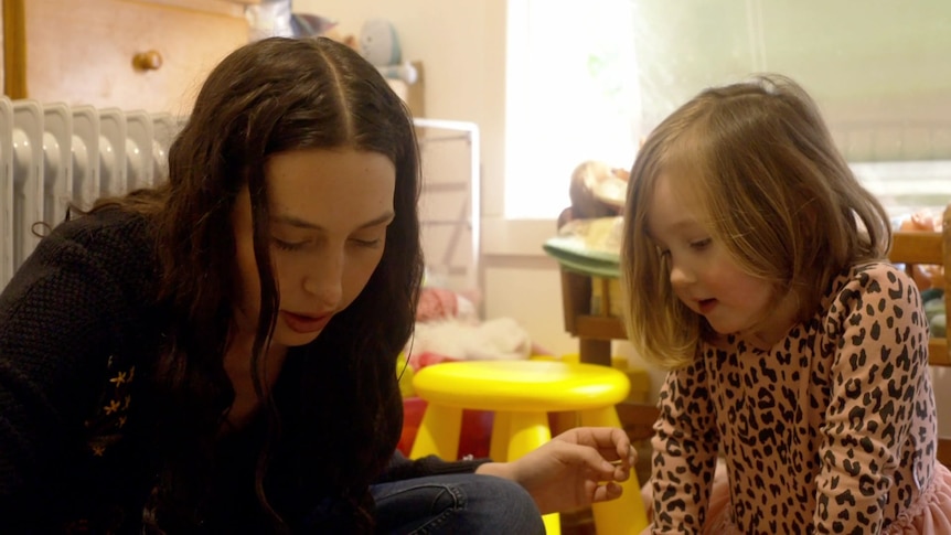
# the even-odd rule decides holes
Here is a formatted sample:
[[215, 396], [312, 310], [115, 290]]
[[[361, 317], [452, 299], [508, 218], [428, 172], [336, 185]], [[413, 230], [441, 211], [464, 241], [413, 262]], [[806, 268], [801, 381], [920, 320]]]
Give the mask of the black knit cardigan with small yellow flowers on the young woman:
[[[0, 293], [0, 533], [141, 531], [161, 466], [146, 376], [168, 318], [157, 280], [147, 221], [107, 210], [56, 227]], [[396, 456], [381, 480], [478, 464]], [[249, 478], [228, 479], [247, 496]]]

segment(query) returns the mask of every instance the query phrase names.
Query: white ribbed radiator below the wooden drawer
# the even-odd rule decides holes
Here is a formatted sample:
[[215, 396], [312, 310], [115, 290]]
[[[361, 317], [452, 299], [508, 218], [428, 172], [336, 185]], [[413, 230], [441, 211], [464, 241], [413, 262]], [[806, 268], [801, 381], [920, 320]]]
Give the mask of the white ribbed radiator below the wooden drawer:
[[168, 114], [0, 96], [0, 288], [71, 204], [163, 180], [180, 127]]

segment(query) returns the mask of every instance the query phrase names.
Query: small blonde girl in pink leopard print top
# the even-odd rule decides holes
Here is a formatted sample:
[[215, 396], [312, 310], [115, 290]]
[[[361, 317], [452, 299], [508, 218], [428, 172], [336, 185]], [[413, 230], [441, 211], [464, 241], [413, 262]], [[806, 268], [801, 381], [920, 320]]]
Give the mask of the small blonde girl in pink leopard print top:
[[652, 533], [951, 533], [921, 299], [800, 87], [760, 77], [674, 111], [627, 216], [628, 332], [670, 368]]

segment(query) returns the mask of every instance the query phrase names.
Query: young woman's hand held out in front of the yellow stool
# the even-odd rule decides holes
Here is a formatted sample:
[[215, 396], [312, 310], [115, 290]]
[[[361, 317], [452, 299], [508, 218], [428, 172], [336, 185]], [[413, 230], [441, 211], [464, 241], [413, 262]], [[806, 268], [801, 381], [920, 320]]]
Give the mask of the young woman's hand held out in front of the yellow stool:
[[613, 500], [630, 477], [637, 453], [621, 429], [569, 429], [512, 462], [490, 462], [476, 471], [517, 482], [542, 514]]

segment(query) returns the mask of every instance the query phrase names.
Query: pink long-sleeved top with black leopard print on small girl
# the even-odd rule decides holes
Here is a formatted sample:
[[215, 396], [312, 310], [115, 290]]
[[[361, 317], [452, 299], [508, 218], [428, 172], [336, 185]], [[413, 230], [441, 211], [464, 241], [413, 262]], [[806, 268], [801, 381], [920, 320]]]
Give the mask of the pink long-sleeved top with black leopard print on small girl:
[[716, 456], [742, 533], [878, 533], [936, 470], [928, 327], [887, 264], [837, 277], [772, 349], [735, 336], [669, 374], [653, 439], [654, 533], [699, 533]]

